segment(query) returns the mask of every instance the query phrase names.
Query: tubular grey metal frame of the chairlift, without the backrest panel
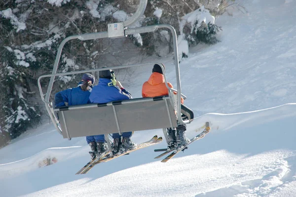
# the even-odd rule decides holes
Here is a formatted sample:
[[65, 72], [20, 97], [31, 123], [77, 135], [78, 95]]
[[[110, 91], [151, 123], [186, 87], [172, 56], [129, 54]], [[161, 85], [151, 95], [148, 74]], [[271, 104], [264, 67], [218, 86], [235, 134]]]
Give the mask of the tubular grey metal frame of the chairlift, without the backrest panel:
[[[126, 37], [127, 35], [132, 35], [132, 34], [138, 34], [138, 33], [141, 34], [141, 33], [154, 32], [154, 31], [156, 31], [157, 29], [160, 29], [160, 28], [166, 28], [166, 29], [170, 30], [171, 33], [172, 33], [173, 45], [174, 45], [174, 61], [175, 61], [175, 69], [176, 69], [177, 90], [173, 89], [173, 88], [170, 88], [167, 85], [167, 79], [166, 79], [166, 76], [165, 76], [164, 68], [163, 68], [162, 64], [159, 63], [159, 62], [148, 62], [148, 63], [142, 63], [142, 64], [123, 65], [123, 66], [110, 67], [110, 68], [107, 68], [107, 69], [122, 69], [122, 68], [131, 68], [131, 67], [138, 67], [138, 66], [151, 66], [151, 65], [154, 65], [154, 64], [159, 64], [161, 66], [161, 69], [162, 69], [163, 74], [164, 74], [164, 79], [165, 79], [165, 82], [166, 82], [166, 86], [169, 89], [169, 97], [170, 97], [171, 104], [173, 105], [174, 110], [176, 111], [176, 119], [177, 119], [178, 124], [190, 123], [191, 120], [188, 120], [188, 119], [185, 120], [185, 119], [183, 119], [181, 117], [181, 96], [184, 99], [186, 99], [186, 96], [181, 93], [181, 80], [180, 80], [180, 70], [179, 70], [177, 34], [176, 34], [175, 29], [171, 25], [168, 25], [168, 24], [151, 25], [151, 26], [146, 26], [146, 27], [138, 27], [138, 28], [130, 28], [130, 29], [127, 28], [128, 26], [133, 24], [135, 21], [137, 21], [140, 16], [143, 15], [143, 13], [144, 13], [144, 11], [146, 9], [147, 1], [148, 0], [140, 0], [140, 4], [139, 4], [139, 7], [138, 7], [136, 13], [131, 18], [129, 18], [127, 21], [108, 24], [108, 32], [74, 35], [74, 36], [67, 37], [66, 39], [64, 39], [61, 42], [61, 44], [60, 44], [60, 46], [58, 48], [58, 51], [57, 51], [57, 55], [56, 55], [55, 63], [54, 63], [54, 66], [53, 66], [52, 74], [43, 75], [43, 76], [40, 76], [38, 78], [38, 88], [39, 88], [41, 99], [45, 104], [45, 108], [46, 108], [46, 110], [47, 110], [47, 112], [49, 114], [49, 117], [54, 122], [54, 125], [55, 125], [57, 131], [61, 135], [63, 135], [63, 131], [62, 131], [62, 128], [61, 128], [61, 126], [59, 124], [59, 120], [58, 120], [57, 116], [55, 115], [55, 112], [59, 111], [59, 109], [54, 109], [54, 106], [52, 106], [52, 102], [49, 101], [55, 77], [57, 77], [57, 76], [66, 76], [66, 75], [75, 75], [75, 74], [81, 74], [81, 73], [91, 73], [91, 72], [98, 72], [98, 71], [106, 70], [106, 68], [100, 68], [100, 69], [74, 71], [74, 72], [67, 72], [67, 73], [57, 73], [57, 69], [58, 69], [58, 65], [59, 65], [59, 61], [60, 61], [60, 57], [61, 57], [61, 53], [62, 53], [62, 49], [63, 49], [64, 45], [69, 40], [72, 40], [72, 39], [90, 40], [90, 39], [104, 39], [104, 38], [122, 38], [122, 37]], [[45, 98], [44, 98], [44, 94], [43, 94], [43, 91], [42, 91], [40, 80], [43, 79], [43, 78], [48, 78], [48, 77], [50, 78], [50, 81], [49, 81], [47, 91], [45, 93]], [[173, 91], [176, 91], [177, 95], [174, 95], [172, 93]], [[165, 137], [167, 139], [165, 129], [163, 129], [163, 132], [164, 132]], [[120, 133], [120, 131], [119, 131], [119, 133]], [[108, 134], [105, 134], [105, 136], [108, 137]], [[71, 137], [68, 136], [67, 138], [69, 140], [71, 140]], [[106, 141], [110, 143], [109, 140], [106, 140]]]

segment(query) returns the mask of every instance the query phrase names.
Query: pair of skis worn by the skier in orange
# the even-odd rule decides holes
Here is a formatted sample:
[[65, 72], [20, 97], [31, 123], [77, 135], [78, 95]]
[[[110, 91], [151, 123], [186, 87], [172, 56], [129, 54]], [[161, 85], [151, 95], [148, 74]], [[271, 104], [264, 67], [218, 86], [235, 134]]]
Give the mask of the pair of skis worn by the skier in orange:
[[203, 138], [207, 133], [209, 133], [211, 130], [211, 127], [209, 125], [209, 122], [206, 122], [206, 125], [205, 125], [205, 129], [198, 135], [196, 135], [195, 137], [193, 137], [189, 143], [183, 145], [183, 146], [178, 146], [178, 147], [175, 147], [173, 149], [156, 149], [154, 150], [155, 152], [160, 152], [160, 151], [165, 151], [164, 153], [160, 154], [159, 156], [155, 157], [155, 158], [161, 158], [171, 152], [169, 156], [167, 156], [166, 158], [162, 159], [161, 162], [167, 162], [169, 159], [173, 158], [175, 155], [177, 155], [178, 153], [180, 153], [181, 151], [184, 151], [185, 149], [187, 149], [187, 146], [191, 143], [193, 143], [194, 141], [196, 140], [199, 140], [201, 138]]

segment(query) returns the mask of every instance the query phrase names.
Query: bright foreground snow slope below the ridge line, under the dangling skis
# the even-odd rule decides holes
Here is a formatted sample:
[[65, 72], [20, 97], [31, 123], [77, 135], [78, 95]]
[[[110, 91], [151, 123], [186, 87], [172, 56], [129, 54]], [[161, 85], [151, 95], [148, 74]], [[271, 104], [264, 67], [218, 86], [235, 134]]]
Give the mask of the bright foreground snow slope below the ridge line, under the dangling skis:
[[[74, 175], [89, 159], [87, 146], [47, 149], [0, 165], [1, 192], [42, 197], [286, 197], [283, 190], [296, 184], [296, 104], [241, 114], [207, 114], [188, 125], [188, 136], [196, 135], [205, 120], [212, 131], [167, 163], [153, 160], [157, 156], [153, 149], [165, 146], [161, 143], [101, 163], [86, 175]], [[160, 132], [149, 131], [145, 136], [136, 132], [135, 141], [156, 133]], [[38, 168], [37, 161], [46, 157], [56, 157], [58, 162]]]

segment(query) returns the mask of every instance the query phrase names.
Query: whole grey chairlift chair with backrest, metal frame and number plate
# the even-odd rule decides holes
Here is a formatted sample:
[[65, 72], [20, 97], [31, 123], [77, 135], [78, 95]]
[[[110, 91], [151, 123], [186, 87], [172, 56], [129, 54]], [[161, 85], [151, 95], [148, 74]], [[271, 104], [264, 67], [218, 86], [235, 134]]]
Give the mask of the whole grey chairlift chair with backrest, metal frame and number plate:
[[[71, 138], [73, 137], [104, 134], [105, 137], [107, 137], [106, 141], [108, 142], [109, 146], [111, 146], [110, 140], [108, 140], [108, 134], [110, 133], [121, 134], [128, 131], [141, 131], [162, 128], [164, 136], [166, 140], [168, 140], [166, 128], [173, 128], [180, 124], [187, 124], [193, 120], [194, 115], [192, 110], [181, 104], [181, 96], [184, 99], [186, 99], [186, 96], [181, 93], [177, 35], [175, 29], [168, 24], [151, 25], [130, 29], [127, 28], [144, 13], [146, 5], [147, 0], [140, 0], [140, 5], [137, 12], [127, 21], [108, 24], [108, 32], [75, 35], [64, 39], [58, 48], [52, 74], [43, 75], [38, 78], [38, 88], [41, 99], [44, 102], [49, 117], [53, 121], [57, 131], [61, 135], [63, 135], [64, 138], [68, 138], [69, 140], [71, 140]], [[110, 68], [57, 73], [62, 49], [65, 43], [69, 40], [90, 40], [104, 38], [115, 39], [126, 37], [127, 35], [131, 34], [154, 32], [160, 28], [166, 28], [172, 33], [177, 90], [170, 88], [167, 85], [164, 67], [159, 62], [121, 65]], [[65, 106], [60, 108], [55, 108], [55, 106], [53, 106], [52, 102], [49, 100], [53, 82], [55, 77], [57, 76], [91, 73], [104, 71], [107, 69], [152, 66], [154, 64], [158, 64], [161, 66], [167, 88], [169, 89], [168, 96], [160, 96], [154, 98], [135, 98], [123, 101], [113, 101], [104, 104], [92, 103], [85, 105]], [[50, 78], [45, 97], [42, 92], [42, 87], [40, 83], [40, 80], [43, 78]], [[177, 94], [175, 95], [173, 91], [176, 91]], [[87, 114], [87, 116], [81, 116], [81, 114]]]

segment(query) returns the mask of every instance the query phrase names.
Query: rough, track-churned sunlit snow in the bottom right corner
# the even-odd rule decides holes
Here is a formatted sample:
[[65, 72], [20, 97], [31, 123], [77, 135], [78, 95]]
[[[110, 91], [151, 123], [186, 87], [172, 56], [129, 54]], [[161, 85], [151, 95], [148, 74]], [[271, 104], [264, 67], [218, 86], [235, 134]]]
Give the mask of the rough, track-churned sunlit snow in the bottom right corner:
[[[292, 163], [289, 164], [289, 161], [292, 161]], [[286, 188], [291, 189], [291, 185], [296, 184], [295, 161], [296, 152], [292, 156], [274, 160], [272, 165], [263, 166], [264, 169], [261, 172], [266, 173], [265, 169], [272, 169], [272, 171], [259, 179], [243, 181], [229, 187], [201, 193], [195, 197], [275, 197], [279, 191], [282, 192]], [[286, 197], [294, 196], [294, 193], [286, 195]]]

